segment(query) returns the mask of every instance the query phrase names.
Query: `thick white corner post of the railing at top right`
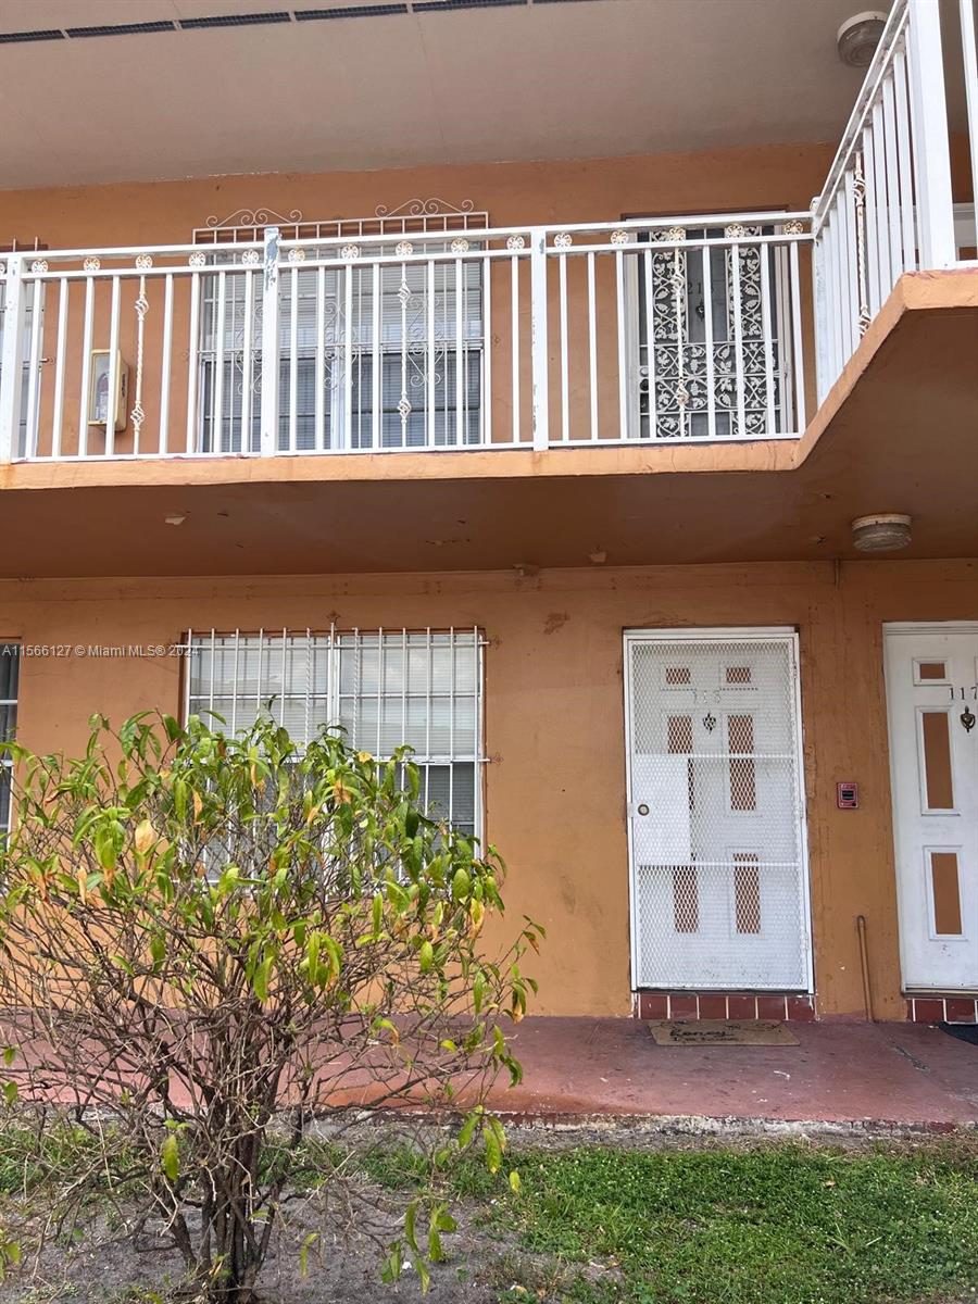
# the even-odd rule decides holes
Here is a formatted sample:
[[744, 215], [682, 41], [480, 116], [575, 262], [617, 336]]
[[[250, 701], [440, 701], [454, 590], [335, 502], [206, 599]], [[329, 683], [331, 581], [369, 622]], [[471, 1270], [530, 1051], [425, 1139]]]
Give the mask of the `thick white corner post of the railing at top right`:
[[936, 0], [908, 0], [914, 173], [921, 266], [949, 267], [957, 258], [951, 197], [951, 149]]

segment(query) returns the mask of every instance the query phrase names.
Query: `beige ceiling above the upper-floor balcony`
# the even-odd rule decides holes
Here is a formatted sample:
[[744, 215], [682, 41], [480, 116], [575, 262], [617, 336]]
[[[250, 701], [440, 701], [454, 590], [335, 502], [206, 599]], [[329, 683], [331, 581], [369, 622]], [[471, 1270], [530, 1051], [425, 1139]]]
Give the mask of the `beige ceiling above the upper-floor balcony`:
[[0, 39], [0, 188], [829, 141], [861, 82], [857, 0], [481, 4], [4, 0], [0, 38], [61, 35]]

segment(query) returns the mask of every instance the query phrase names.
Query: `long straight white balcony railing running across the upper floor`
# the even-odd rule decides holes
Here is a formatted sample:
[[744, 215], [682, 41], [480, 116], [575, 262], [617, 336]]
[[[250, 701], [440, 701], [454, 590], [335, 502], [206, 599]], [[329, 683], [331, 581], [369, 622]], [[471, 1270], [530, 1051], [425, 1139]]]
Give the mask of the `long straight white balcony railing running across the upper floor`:
[[794, 436], [808, 243], [748, 213], [13, 254], [0, 460]]

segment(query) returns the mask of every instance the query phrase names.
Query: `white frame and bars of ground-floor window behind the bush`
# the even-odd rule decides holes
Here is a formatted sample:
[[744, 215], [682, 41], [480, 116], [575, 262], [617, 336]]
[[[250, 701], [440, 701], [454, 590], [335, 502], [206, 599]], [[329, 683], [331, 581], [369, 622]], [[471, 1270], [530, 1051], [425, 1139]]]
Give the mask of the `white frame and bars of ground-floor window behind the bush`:
[[[449, 640], [447, 645], [452, 648], [452, 661], [451, 661], [451, 664], [452, 664], [452, 681], [454, 681], [454, 666], [455, 666], [454, 649], [459, 648], [459, 647], [462, 647], [462, 648], [469, 648], [471, 647], [475, 651], [475, 690], [473, 690], [473, 694], [472, 694], [473, 695], [473, 707], [475, 707], [475, 719], [473, 719], [473, 725], [475, 725], [473, 743], [475, 743], [475, 746], [473, 746], [473, 750], [472, 751], [458, 751], [456, 752], [455, 747], [454, 747], [454, 741], [452, 741], [452, 742], [450, 742], [449, 751], [437, 752], [437, 751], [432, 751], [430, 748], [425, 748], [424, 751], [421, 751], [420, 748], [415, 748], [415, 754], [411, 756], [411, 760], [421, 771], [422, 782], [424, 782], [422, 793], [426, 792], [426, 776], [428, 776], [428, 773], [429, 773], [430, 769], [447, 769], [449, 771], [449, 782], [450, 782], [449, 815], [451, 815], [451, 808], [452, 808], [452, 795], [451, 795], [451, 793], [452, 793], [452, 788], [451, 788], [451, 784], [452, 784], [452, 767], [454, 765], [471, 765], [472, 767], [472, 773], [473, 773], [472, 832], [473, 832], [473, 836], [479, 840], [480, 845], [484, 845], [484, 835], [485, 835], [485, 765], [488, 763], [488, 758], [485, 755], [485, 742], [484, 742], [484, 739], [485, 739], [485, 648], [486, 648], [488, 643], [486, 643], [484, 631], [480, 630], [479, 626], [466, 627], [466, 629], [456, 629], [454, 626], [450, 626], [449, 629], [425, 627], [425, 629], [413, 629], [413, 630], [409, 630], [407, 627], [406, 629], [400, 629], [400, 630], [391, 630], [391, 629], [383, 629], [383, 627], [373, 629], [373, 630], [361, 630], [361, 629], [339, 630], [336, 627], [331, 627], [331, 629], [323, 630], [323, 631], [314, 631], [314, 630], [310, 630], [310, 629], [305, 629], [305, 630], [296, 630], [296, 629], [267, 630], [267, 629], [259, 629], [259, 630], [252, 630], [252, 631], [249, 631], [249, 630], [241, 630], [241, 629], [232, 629], [232, 630], [216, 630], [216, 629], [211, 629], [211, 630], [206, 630], [206, 631], [188, 630], [186, 639], [185, 639], [186, 665], [184, 668], [184, 677], [183, 677], [184, 678], [184, 682], [183, 682], [183, 715], [184, 715], [184, 721], [186, 721], [193, 712], [203, 713], [207, 709], [213, 709], [213, 704], [214, 704], [216, 696], [223, 696], [223, 698], [228, 696], [228, 694], [226, 694], [226, 692], [215, 694], [215, 691], [214, 691], [214, 679], [213, 678], [211, 678], [211, 690], [210, 690], [210, 694], [206, 694], [206, 692], [196, 692], [194, 694], [194, 692], [192, 692], [192, 687], [193, 687], [193, 656], [194, 656], [193, 648], [194, 648], [194, 645], [206, 647], [207, 643], [209, 643], [210, 648], [211, 648], [211, 652], [214, 652], [214, 649], [218, 647], [218, 640], [233, 639], [235, 640], [235, 681], [236, 681], [236, 677], [237, 677], [237, 648], [239, 648], [239, 645], [244, 645], [245, 640], [252, 640], [252, 644], [257, 640], [259, 648], [262, 647], [262, 640], [274, 640], [274, 643], [276, 643], [276, 644], [280, 642], [280, 653], [279, 655], [282, 656], [283, 662], [284, 662], [284, 659], [286, 659], [288, 648], [289, 648], [289, 644], [286, 640], [293, 640], [291, 645], [292, 645], [292, 648], [295, 648], [295, 640], [301, 642], [303, 639], [305, 639], [306, 640], [306, 657], [309, 657], [310, 653], [312, 653], [313, 640], [316, 640], [316, 645], [319, 647], [319, 648], [322, 648], [323, 643], [325, 643], [326, 644], [325, 651], [326, 651], [326, 656], [327, 656], [326, 690], [325, 690], [325, 692], [318, 692], [316, 695], [310, 694], [309, 690], [308, 690], [309, 679], [308, 679], [308, 670], [306, 670], [306, 692], [305, 692], [305, 700], [306, 700], [306, 703], [309, 703], [310, 700], [313, 700], [313, 696], [325, 700], [326, 702], [326, 716], [327, 716], [327, 720], [330, 721], [330, 726], [331, 726], [334, 722], [339, 724], [339, 721], [342, 719], [340, 698], [343, 698], [343, 696], [351, 696], [349, 694], [343, 694], [342, 692], [342, 674], [340, 674], [342, 656], [343, 656], [344, 649], [348, 649], [351, 647], [349, 640], [356, 640], [352, 644], [353, 647], [364, 647], [364, 645], [365, 647], [370, 647], [369, 643], [361, 644], [361, 643], [359, 643], [359, 640], [361, 640], [361, 639], [379, 639], [381, 640], [381, 648], [386, 648], [386, 647], [390, 647], [391, 644], [390, 643], [385, 643], [383, 642], [385, 639], [394, 639], [394, 640], [399, 639], [400, 643], [402, 643], [402, 647], [404, 648], [404, 651], [407, 651], [408, 640], [409, 639], [417, 640], [420, 638], [425, 639], [425, 644], [428, 647], [428, 655], [429, 655], [428, 690], [426, 690], [426, 698], [428, 698], [428, 702], [429, 702], [429, 732], [430, 732], [430, 702], [432, 702], [432, 699], [434, 696], [438, 696], [438, 698], [447, 696], [449, 698], [449, 720], [451, 721], [451, 724], [450, 724], [450, 738], [452, 738], [452, 739], [454, 739], [455, 700], [456, 700], [455, 685], [454, 685], [454, 682], [450, 683], [447, 692], [434, 692], [433, 691], [434, 686], [432, 683], [432, 675], [430, 675], [432, 649], [434, 647], [437, 647], [437, 645], [442, 645], [442, 647], [446, 645], [445, 643], [436, 642], [436, 640], [442, 640], [442, 639], [447, 639]], [[222, 644], [222, 645], [226, 645], [226, 644]], [[416, 647], [417, 643], [413, 643], [413, 645]], [[381, 656], [382, 656], [382, 652], [381, 652]], [[214, 661], [211, 661], [211, 665], [214, 665]], [[309, 661], [306, 661], [306, 666], [308, 665], [309, 665]], [[284, 670], [284, 665], [283, 665], [283, 670]], [[466, 696], [469, 696], [469, 695], [471, 694], [466, 694]], [[233, 691], [233, 685], [232, 685], [232, 692], [230, 694], [230, 696], [235, 702], [239, 700], [239, 695]], [[289, 694], [289, 698], [295, 698], [295, 696], [301, 696], [301, 694]], [[361, 696], [361, 695], [357, 695], [357, 696]], [[379, 700], [382, 700], [385, 698], [390, 699], [390, 696], [393, 696], [393, 694], [383, 694], [383, 691], [382, 691], [381, 666], [378, 664], [378, 690], [377, 690], [377, 699], [379, 702]], [[407, 675], [404, 675], [403, 682], [402, 682], [400, 696], [402, 696], [402, 703], [403, 703], [402, 709], [404, 712], [403, 717], [406, 719], [407, 717], [407, 702], [408, 702], [409, 696], [415, 696], [415, 694], [408, 694]], [[256, 698], [252, 699], [252, 696], [249, 695], [248, 702], [249, 702], [249, 705], [253, 707], [256, 704], [256, 702], [263, 702], [263, 700], [266, 700], [266, 699], [262, 698], [262, 695], [261, 695], [261, 685], [259, 685], [258, 686], [258, 692], [256, 694]], [[282, 700], [284, 703], [284, 698]], [[207, 707], [207, 702], [210, 702], [210, 707]], [[274, 717], [275, 717], [275, 709], [273, 707], [273, 719]], [[205, 715], [205, 720], [207, 720], [207, 719], [209, 717]], [[232, 719], [227, 721], [227, 728], [228, 728], [228, 730], [233, 732], [235, 726], [236, 726], [236, 721], [235, 721], [235, 717], [233, 717], [233, 713], [232, 713]], [[317, 725], [316, 728], [318, 729], [319, 726]], [[378, 737], [377, 737], [376, 742], [379, 742], [379, 729], [381, 729], [381, 713], [378, 711]], [[306, 739], [313, 734], [313, 732], [314, 730], [309, 725], [309, 713], [306, 711]], [[390, 759], [390, 751], [381, 750], [376, 745], [376, 742], [372, 745], [372, 742], [373, 742], [372, 739], [360, 738], [360, 739], [353, 739], [353, 741], [360, 747], [363, 747], [363, 750], [369, 751], [372, 755], [377, 756], [378, 760], [383, 762], [383, 760], [389, 760]]]

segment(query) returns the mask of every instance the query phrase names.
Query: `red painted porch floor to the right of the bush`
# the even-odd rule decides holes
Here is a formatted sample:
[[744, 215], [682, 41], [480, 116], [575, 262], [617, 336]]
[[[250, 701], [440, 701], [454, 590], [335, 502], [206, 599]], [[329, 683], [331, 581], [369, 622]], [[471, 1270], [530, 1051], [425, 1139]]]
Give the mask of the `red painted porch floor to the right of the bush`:
[[798, 1046], [656, 1046], [635, 1018], [531, 1017], [524, 1081], [492, 1104], [537, 1118], [679, 1116], [978, 1125], [978, 1046], [921, 1024], [789, 1025]]

